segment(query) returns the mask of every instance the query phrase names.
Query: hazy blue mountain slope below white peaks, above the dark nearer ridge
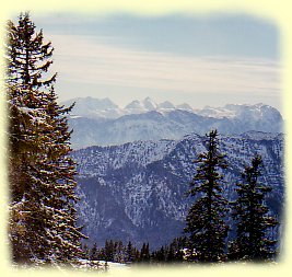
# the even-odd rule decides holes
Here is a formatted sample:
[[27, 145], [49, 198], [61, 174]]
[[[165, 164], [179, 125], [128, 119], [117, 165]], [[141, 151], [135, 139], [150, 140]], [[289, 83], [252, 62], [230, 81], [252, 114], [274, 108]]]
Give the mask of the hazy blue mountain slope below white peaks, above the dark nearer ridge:
[[203, 113], [202, 116], [189, 111], [166, 108], [164, 112], [150, 111], [112, 119], [71, 117], [71, 142], [74, 149], [80, 149], [96, 145], [122, 145], [136, 140], [182, 139], [190, 131], [205, 135], [214, 128], [223, 135], [250, 130], [282, 131], [283, 119], [277, 109], [267, 105], [236, 108], [237, 112], [232, 117], [212, 117], [212, 113], [208, 116]]

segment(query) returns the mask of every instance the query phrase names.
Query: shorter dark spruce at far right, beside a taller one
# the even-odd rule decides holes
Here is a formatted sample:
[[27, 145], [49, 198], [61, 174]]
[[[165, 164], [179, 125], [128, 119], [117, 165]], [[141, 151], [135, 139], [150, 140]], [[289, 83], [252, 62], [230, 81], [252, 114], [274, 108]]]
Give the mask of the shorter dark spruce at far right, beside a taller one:
[[270, 238], [268, 230], [278, 222], [265, 204], [271, 187], [260, 182], [261, 170], [261, 157], [255, 155], [252, 165], [242, 173], [244, 182], [237, 184], [237, 199], [233, 204], [236, 239], [230, 245], [231, 259], [265, 261], [276, 255], [276, 240]]

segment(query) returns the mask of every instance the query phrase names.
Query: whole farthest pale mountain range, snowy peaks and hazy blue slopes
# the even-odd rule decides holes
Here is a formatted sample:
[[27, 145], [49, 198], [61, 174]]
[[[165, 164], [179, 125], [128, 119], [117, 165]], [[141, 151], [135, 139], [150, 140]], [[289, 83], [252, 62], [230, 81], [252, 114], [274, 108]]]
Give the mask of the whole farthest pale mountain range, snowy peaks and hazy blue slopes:
[[192, 109], [188, 104], [156, 104], [150, 97], [132, 101], [124, 108], [109, 99], [74, 99], [62, 104], [75, 106], [69, 117], [73, 149], [114, 146], [138, 140], [182, 139], [217, 128], [222, 135], [249, 130], [282, 132], [279, 111], [265, 105], [234, 105]]

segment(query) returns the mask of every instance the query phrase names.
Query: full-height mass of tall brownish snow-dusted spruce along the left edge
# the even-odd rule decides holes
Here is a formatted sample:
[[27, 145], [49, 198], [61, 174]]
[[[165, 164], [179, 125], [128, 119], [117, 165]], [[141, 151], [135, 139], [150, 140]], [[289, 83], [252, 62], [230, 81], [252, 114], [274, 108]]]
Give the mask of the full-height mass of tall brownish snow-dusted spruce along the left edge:
[[30, 14], [8, 22], [10, 240], [15, 262], [73, 262], [81, 256], [75, 226], [75, 166], [70, 158], [67, 113], [57, 103], [50, 43], [35, 32]]

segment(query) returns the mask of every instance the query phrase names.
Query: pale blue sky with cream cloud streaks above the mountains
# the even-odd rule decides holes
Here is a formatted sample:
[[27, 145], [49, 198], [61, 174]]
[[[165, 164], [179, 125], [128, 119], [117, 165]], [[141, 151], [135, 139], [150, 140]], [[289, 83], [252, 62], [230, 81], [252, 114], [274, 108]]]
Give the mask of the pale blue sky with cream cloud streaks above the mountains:
[[267, 103], [281, 108], [280, 37], [247, 15], [142, 18], [32, 14], [55, 47], [60, 100], [152, 97], [194, 107]]

